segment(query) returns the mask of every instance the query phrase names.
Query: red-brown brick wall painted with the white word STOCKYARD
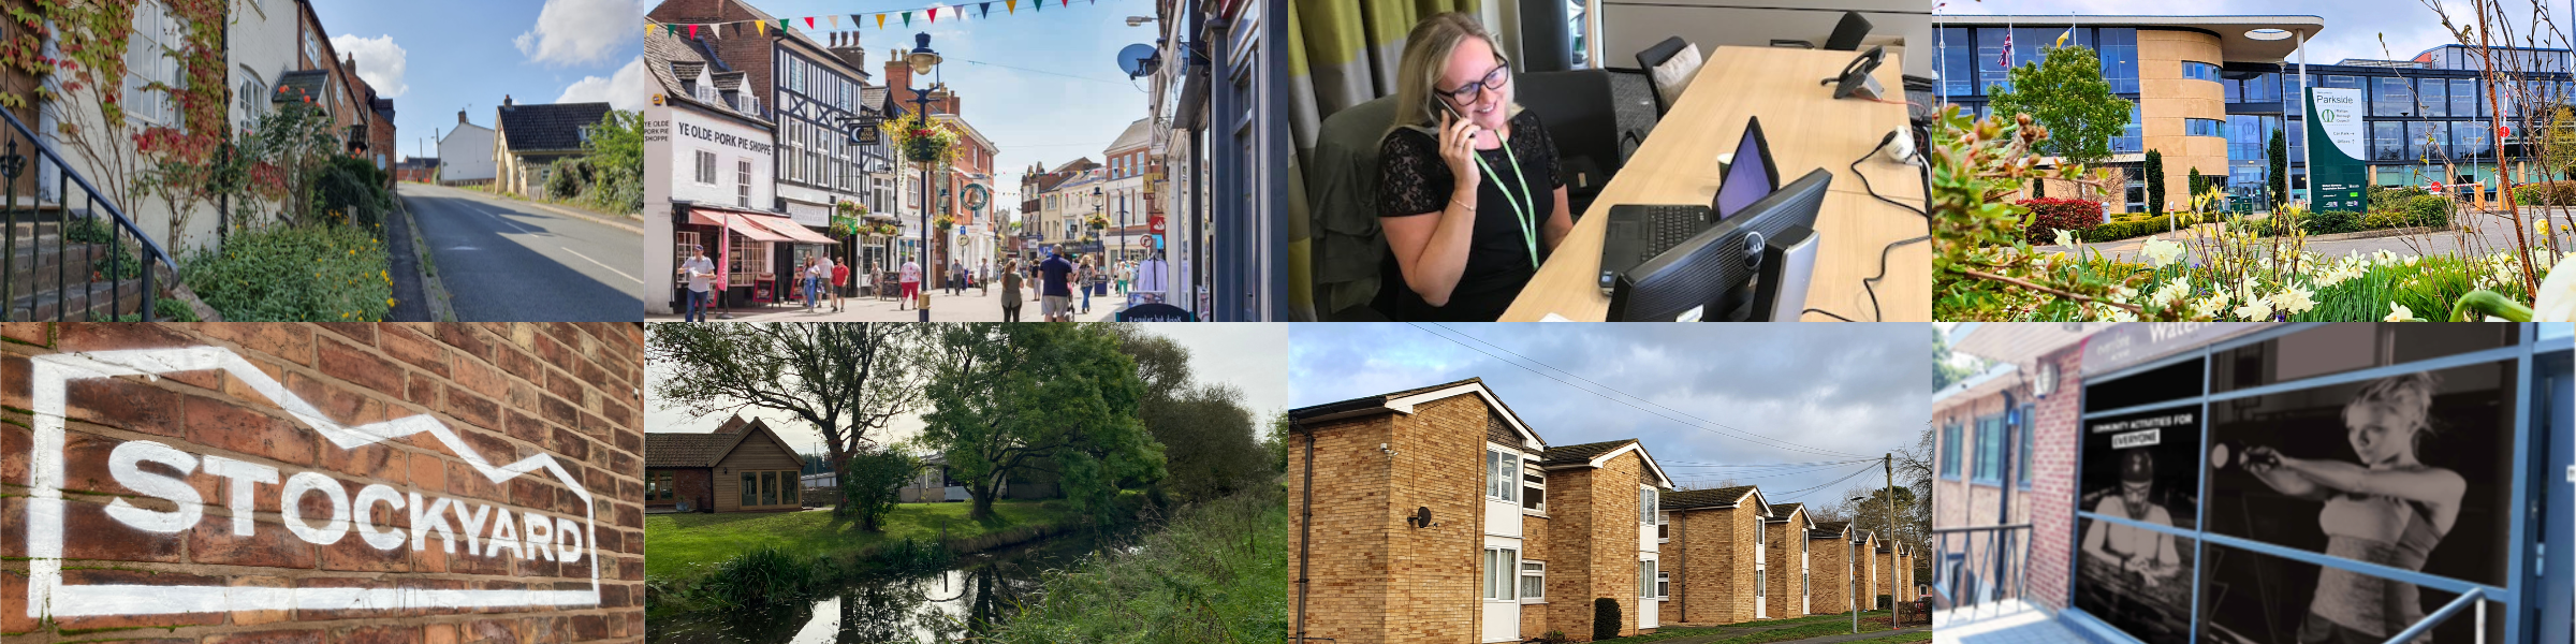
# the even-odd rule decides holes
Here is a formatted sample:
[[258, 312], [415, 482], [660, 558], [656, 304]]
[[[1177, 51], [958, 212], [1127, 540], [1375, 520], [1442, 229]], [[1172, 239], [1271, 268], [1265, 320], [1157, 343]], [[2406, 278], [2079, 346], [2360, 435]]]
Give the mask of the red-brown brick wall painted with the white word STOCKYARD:
[[[636, 325], [10, 322], [0, 337], [0, 631], [10, 641], [100, 631], [155, 641], [644, 639]], [[111, 358], [93, 350], [157, 350], [162, 363], [126, 366], [167, 374], [59, 381], [46, 392], [62, 392], [52, 402], [62, 422], [39, 422], [28, 410], [52, 394], [36, 392], [36, 366], [59, 374], [59, 361]], [[227, 355], [237, 371], [198, 368]], [[392, 438], [335, 438], [283, 412], [283, 399], [307, 402], [332, 430], [402, 425], [379, 425]], [[46, 446], [59, 456], [39, 453]], [[536, 456], [562, 474], [497, 477], [474, 464]], [[59, 459], [59, 559], [33, 556], [36, 538], [23, 538], [44, 531], [57, 500], [33, 477], [52, 469], [46, 459]], [[430, 500], [453, 502], [453, 520]], [[415, 518], [422, 505], [433, 510]], [[489, 526], [466, 505], [487, 507]], [[355, 526], [325, 520], [343, 515]], [[206, 611], [85, 616], [98, 603], [31, 598], [54, 562], [62, 585], [144, 587], [82, 598], [131, 592], [131, 605]], [[533, 608], [440, 608], [433, 592], [407, 590], [554, 592]], [[309, 608], [335, 595], [381, 608]], [[31, 600], [52, 605], [49, 621], [21, 611]]]

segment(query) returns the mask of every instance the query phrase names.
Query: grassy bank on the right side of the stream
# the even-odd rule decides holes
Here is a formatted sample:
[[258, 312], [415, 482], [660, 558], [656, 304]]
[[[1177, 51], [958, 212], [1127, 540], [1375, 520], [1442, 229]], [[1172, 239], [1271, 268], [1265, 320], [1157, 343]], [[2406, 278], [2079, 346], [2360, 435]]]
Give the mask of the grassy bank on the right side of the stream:
[[1048, 572], [984, 641], [1280, 641], [1288, 636], [1288, 505], [1260, 487], [1182, 507], [1133, 551]]

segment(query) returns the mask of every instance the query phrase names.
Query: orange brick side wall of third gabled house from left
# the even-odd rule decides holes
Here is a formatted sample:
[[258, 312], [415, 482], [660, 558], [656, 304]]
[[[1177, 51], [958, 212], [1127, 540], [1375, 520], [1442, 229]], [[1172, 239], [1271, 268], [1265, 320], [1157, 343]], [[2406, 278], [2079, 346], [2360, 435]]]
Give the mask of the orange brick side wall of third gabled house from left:
[[[1682, 611], [1674, 621], [1736, 623], [1754, 618], [1754, 507], [1672, 513], [1682, 528]], [[1667, 544], [1667, 549], [1672, 549]]]

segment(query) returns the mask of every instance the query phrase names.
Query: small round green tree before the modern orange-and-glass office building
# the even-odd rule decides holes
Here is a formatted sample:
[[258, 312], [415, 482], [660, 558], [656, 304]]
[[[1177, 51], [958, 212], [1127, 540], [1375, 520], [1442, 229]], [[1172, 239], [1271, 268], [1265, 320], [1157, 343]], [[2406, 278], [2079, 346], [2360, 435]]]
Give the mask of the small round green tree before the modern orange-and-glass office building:
[[[2069, 165], [2110, 157], [2110, 139], [2128, 129], [2130, 103], [2110, 93], [2102, 57], [2087, 46], [2048, 46], [2038, 62], [2012, 67], [2012, 88], [1991, 88], [1994, 113], [2027, 113], [2048, 129], [2038, 152]], [[2076, 183], [2076, 198], [2084, 198]]]

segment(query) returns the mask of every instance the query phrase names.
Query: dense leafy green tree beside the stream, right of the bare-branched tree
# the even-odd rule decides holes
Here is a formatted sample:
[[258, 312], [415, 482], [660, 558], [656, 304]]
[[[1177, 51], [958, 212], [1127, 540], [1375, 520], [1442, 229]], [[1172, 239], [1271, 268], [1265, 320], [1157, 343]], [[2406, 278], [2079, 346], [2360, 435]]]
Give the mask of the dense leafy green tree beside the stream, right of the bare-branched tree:
[[1061, 477], [1066, 500], [1103, 515], [1118, 489], [1162, 479], [1162, 446], [1136, 404], [1144, 379], [1118, 337], [1084, 325], [938, 325], [925, 448], [974, 495], [971, 518], [1015, 471]]

